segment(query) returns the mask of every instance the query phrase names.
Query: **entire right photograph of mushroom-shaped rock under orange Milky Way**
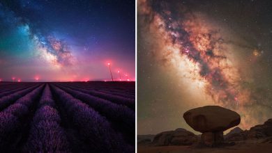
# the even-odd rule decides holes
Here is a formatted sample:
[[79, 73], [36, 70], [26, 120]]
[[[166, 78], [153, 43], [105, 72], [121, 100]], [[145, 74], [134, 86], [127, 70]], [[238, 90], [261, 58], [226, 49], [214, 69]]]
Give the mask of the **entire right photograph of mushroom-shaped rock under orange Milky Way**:
[[272, 1], [137, 1], [137, 152], [271, 152]]

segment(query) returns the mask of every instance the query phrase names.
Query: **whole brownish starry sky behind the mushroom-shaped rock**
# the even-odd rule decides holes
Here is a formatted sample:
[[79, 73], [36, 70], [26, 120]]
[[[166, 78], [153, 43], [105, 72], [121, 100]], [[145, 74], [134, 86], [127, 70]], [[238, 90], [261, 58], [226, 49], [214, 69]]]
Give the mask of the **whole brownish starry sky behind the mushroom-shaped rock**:
[[219, 105], [241, 129], [272, 118], [272, 1], [139, 0], [137, 131], [185, 128], [191, 108]]

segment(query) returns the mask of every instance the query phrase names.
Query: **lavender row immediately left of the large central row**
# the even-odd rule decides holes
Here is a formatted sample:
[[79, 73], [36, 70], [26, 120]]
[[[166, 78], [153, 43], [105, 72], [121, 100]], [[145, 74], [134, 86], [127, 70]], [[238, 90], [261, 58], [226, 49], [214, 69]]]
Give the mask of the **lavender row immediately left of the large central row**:
[[43, 86], [39, 86], [0, 113], [0, 148], [6, 151], [16, 148], [13, 144], [20, 138], [22, 126], [42, 90]]

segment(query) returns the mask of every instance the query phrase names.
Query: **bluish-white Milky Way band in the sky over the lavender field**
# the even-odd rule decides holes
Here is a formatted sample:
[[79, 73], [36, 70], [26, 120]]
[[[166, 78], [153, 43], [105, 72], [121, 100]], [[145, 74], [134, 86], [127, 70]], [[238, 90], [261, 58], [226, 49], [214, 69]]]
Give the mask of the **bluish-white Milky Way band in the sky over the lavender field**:
[[48, 62], [61, 66], [72, 65], [73, 56], [68, 45], [63, 42], [63, 40], [55, 38], [55, 36], [50, 33], [50, 29], [40, 25], [41, 19], [39, 17], [23, 16], [24, 14], [20, 14], [22, 10], [24, 10], [24, 13], [28, 13], [31, 12], [31, 9], [22, 8], [19, 3], [14, 4], [16, 5], [16, 9], [11, 10], [0, 3], [2, 20], [6, 22], [6, 24], [21, 26], [22, 30], [29, 35], [29, 38], [38, 45], [38, 54]]

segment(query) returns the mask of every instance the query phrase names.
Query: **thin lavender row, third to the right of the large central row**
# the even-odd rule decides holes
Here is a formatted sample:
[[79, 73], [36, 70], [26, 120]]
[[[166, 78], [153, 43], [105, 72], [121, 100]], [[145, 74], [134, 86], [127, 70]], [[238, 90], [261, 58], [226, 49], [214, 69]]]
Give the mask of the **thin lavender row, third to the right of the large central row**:
[[120, 97], [117, 95], [109, 95], [109, 94], [94, 91], [94, 90], [84, 90], [81, 88], [73, 88], [71, 86], [66, 86], [66, 87], [71, 88], [73, 90], [78, 90], [80, 92], [87, 93], [87, 94], [95, 96], [95, 97], [100, 97], [101, 99], [106, 99], [106, 100], [113, 102], [115, 104], [121, 104], [124, 106], [128, 106], [128, 108], [135, 110], [135, 99], [128, 99], [128, 98]]

